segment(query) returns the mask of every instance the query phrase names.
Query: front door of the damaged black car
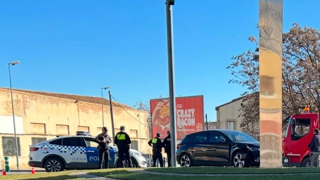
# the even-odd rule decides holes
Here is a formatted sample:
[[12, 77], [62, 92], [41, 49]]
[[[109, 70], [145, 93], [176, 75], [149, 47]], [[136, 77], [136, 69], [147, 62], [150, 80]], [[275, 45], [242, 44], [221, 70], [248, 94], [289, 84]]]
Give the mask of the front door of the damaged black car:
[[[219, 140], [225, 140], [225, 142]], [[227, 137], [219, 131], [211, 131], [207, 145], [208, 165], [230, 164], [230, 144]]]

